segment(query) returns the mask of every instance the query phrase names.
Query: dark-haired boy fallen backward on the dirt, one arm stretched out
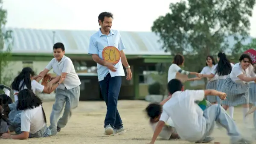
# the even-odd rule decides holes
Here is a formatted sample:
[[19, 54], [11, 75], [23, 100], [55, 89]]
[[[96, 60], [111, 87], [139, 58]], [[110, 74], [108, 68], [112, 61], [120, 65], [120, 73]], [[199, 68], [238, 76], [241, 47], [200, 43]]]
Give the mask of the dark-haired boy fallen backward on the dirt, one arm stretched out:
[[251, 144], [241, 136], [235, 122], [221, 105], [215, 104], [203, 111], [195, 103], [195, 101], [202, 101], [206, 95], [218, 95], [224, 100], [227, 96], [224, 92], [213, 89], [184, 91], [184, 86], [177, 79], [169, 81], [168, 90], [171, 98], [163, 105], [163, 109], [158, 109], [158, 111], [163, 111], [150, 144], [154, 144], [170, 117], [177, 133], [183, 140], [190, 142], [212, 141], [209, 135], [212, 133], [216, 121], [227, 130], [231, 144]]

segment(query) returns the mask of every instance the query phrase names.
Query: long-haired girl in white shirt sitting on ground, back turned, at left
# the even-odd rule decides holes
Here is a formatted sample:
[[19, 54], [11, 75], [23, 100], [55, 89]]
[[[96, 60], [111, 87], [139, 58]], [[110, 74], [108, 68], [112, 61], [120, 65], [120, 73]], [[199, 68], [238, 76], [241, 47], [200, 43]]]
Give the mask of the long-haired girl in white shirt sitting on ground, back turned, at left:
[[39, 138], [55, 135], [57, 131], [52, 131], [47, 127], [44, 108], [41, 99], [29, 89], [23, 89], [18, 94], [17, 109], [21, 110], [21, 133], [10, 135], [4, 133], [2, 138], [26, 139]]

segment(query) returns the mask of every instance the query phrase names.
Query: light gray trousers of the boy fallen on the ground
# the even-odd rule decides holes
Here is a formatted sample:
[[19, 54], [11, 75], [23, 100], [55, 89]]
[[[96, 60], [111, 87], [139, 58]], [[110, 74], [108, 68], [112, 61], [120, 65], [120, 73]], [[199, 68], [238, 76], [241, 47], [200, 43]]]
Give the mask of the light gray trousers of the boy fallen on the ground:
[[239, 141], [242, 138], [235, 122], [220, 104], [214, 104], [205, 109], [203, 116], [203, 124], [206, 124], [206, 130], [201, 140], [212, 134], [215, 121], [227, 130], [227, 135], [230, 136], [231, 142]]

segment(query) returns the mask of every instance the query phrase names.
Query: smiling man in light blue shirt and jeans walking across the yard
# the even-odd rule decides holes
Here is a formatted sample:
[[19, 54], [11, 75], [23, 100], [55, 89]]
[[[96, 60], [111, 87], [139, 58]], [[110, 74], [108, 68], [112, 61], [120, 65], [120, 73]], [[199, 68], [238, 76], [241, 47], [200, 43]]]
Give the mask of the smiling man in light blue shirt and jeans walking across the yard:
[[[102, 97], [107, 104], [107, 114], [104, 124], [105, 134], [119, 135], [126, 132], [117, 110], [117, 100], [122, 84], [122, 76], [125, 76], [122, 64], [125, 66], [127, 72], [127, 80], [131, 80], [132, 74], [125, 53], [123, 52], [125, 46], [120, 33], [116, 30], [111, 30], [112, 21], [113, 14], [110, 12], [99, 14], [98, 22], [100, 28], [98, 32], [90, 37], [88, 53], [92, 55], [93, 60], [97, 63], [99, 85]], [[121, 58], [119, 61], [116, 61], [116, 64], [103, 60], [102, 51], [107, 46], [114, 46], [119, 50]]]

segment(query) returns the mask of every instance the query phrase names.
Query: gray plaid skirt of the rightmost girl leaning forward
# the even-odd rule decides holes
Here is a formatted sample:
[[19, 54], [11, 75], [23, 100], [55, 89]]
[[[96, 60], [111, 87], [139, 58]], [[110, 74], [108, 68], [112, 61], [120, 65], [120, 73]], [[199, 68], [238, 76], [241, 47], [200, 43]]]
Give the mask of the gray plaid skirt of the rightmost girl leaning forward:
[[248, 89], [249, 84], [238, 84], [228, 77], [221, 88], [221, 92], [227, 94], [227, 100], [222, 101], [222, 104], [227, 106], [248, 104]]

